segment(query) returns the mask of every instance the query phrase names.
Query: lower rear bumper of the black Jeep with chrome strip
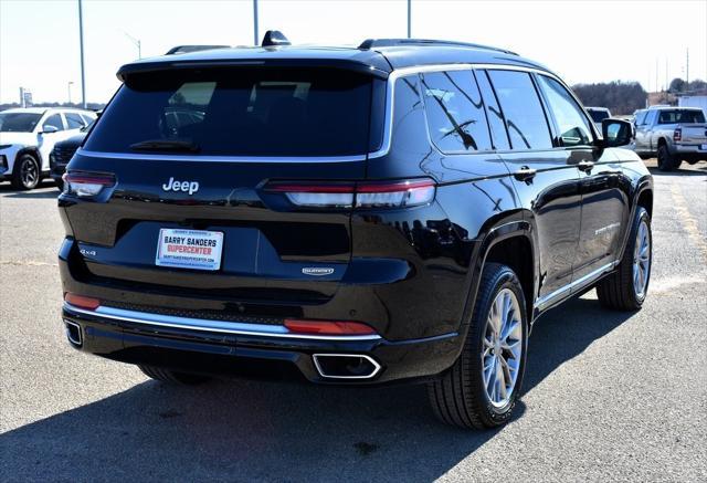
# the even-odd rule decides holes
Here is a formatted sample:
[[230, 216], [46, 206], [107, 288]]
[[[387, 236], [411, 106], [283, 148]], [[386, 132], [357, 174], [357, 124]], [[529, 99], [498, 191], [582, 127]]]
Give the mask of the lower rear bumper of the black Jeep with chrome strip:
[[[436, 375], [458, 355], [456, 333], [390, 342], [380, 336], [299, 336], [284, 326], [193, 319], [64, 304], [73, 347], [109, 359], [223, 376], [265, 376], [319, 384], [372, 385]], [[78, 336], [76, 336], [78, 330]], [[70, 334], [71, 335], [71, 334]], [[326, 377], [313, 355], [357, 355], [379, 366], [369, 377]]]

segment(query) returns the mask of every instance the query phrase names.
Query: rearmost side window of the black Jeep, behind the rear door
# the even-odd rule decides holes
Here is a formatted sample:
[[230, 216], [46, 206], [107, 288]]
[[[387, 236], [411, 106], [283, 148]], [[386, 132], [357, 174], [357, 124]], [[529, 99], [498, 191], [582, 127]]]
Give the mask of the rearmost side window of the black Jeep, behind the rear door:
[[493, 149], [484, 103], [471, 71], [422, 76], [430, 137], [443, 153]]

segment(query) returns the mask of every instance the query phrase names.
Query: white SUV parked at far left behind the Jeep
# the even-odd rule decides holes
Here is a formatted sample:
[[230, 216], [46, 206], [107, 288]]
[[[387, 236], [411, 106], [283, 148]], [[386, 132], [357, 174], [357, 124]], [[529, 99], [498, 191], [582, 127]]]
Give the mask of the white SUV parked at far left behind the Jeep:
[[0, 113], [0, 180], [32, 189], [49, 175], [54, 144], [74, 136], [96, 114], [91, 111], [29, 107]]

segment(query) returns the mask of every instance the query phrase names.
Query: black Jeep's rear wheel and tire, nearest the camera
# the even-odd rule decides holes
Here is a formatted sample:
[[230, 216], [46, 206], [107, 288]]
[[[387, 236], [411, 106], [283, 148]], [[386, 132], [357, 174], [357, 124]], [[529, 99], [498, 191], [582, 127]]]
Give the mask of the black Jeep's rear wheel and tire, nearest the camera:
[[[487, 389], [485, 379], [488, 378], [489, 381], [490, 379], [496, 380], [490, 369], [496, 367], [494, 360], [498, 361], [499, 358], [490, 347], [493, 345], [495, 350], [498, 350], [503, 345], [486, 343], [489, 339], [487, 330], [492, 330], [493, 327], [493, 325], [489, 325], [492, 319], [489, 315], [492, 315], [492, 308], [497, 298], [504, 300], [509, 294], [515, 297], [515, 305], [511, 303], [515, 312], [515, 324], [511, 327], [515, 326], [516, 328], [507, 330], [509, 337], [506, 343], [511, 342], [506, 347], [519, 347], [520, 353], [519, 355], [510, 354], [507, 348], [500, 350], [506, 355], [505, 360], [515, 361], [516, 378], [515, 384], [510, 387], [510, 392], [506, 393], [505, 398], [500, 399], [499, 392], [495, 391], [496, 397], [500, 400], [492, 401], [494, 391], [488, 392], [490, 389]], [[508, 325], [504, 326], [503, 323], [499, 324], [502, 333], [504, 332], [503, 327], [509, 327]], [[508, 422], [523, 386], [528, 346], [527, 334], [528, 322], [525, 297], [518, 276], [506, 265], [488, 263], [484, 267], [474, 314], [462, 354], [451, 369], [428, 384], [428, 395], [435, 416], [447, 424], [461, 428], [485, 429]], [[490, 339], [493, 340], [493, 336]], [[484, 364], [485, 361], [489, 363]], [[484, 374], [484, 367], [489, 368], [488, 376]], [[509, 368], [509, 364], [506, 363], [505, 367]], [[503, 364], [500, 368], [503, 371]], [[508, 369], [508, 372], [503, 371], [503, 374], [509, 375], [510, 370]]]

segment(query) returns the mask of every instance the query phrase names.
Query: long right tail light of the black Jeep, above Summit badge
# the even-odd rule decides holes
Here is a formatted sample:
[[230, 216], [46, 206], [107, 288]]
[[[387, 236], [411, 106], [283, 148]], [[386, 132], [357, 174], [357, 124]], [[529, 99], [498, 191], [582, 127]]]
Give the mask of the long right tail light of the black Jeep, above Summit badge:
[[401, 208], [426, 204], [434, 199], [431, 179], [363, 182], [274, 181], [265, 191], [284, 193], [298, 207]]

